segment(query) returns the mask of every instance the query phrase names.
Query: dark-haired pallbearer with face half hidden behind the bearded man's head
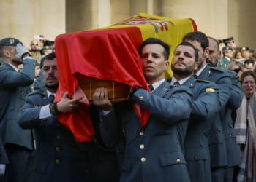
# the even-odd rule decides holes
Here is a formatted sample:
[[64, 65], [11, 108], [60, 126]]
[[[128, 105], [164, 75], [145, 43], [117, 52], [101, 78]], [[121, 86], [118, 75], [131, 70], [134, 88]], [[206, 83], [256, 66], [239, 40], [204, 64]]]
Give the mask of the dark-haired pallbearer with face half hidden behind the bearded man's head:
[[[211, 179], [212, 181], [223, 181], [225, 167], [227, 167], [227, 154], [221, 119], [232, 91], [231, 79], [225, 70], [212, 68], [206, 64], [209, 54], [209, 41], [206, 34], [200, 31], [187, 33], [183, 40], [191, 43], [198, 51], [200, 66], [195, 71], [197, 79], [214, 82], [219, 87], [220, 106], [218, 114], [211, 124], [208, 145], [211, 156]], [[208, 60], [209, 62], [210, 60]]]

